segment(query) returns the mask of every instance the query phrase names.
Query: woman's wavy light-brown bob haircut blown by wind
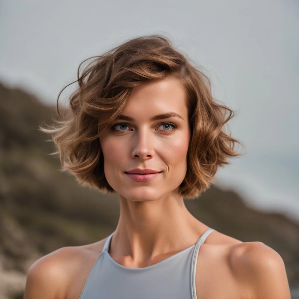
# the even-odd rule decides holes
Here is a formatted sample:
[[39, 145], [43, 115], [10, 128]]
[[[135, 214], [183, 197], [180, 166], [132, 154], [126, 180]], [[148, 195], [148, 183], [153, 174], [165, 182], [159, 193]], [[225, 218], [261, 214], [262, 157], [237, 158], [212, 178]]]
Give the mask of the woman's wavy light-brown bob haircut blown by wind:
[[[80, 73], [83, 62], [93, 59]], [[224, 125], [234, 113], [216, 103], [208, 77], [176, 51], [161, 35], [131, 39], [103, 55], [84, 60], [77, 72], [77, 90], [69, 107], [52, 126], [41, 128], [50, 133], [60, 155], [63, 170], [76, 176], [83, 185], [102, 193], [116, 193], [108, 184], [103, 168], [99, 135], [112, 126], [121, 114], [132, 89], [142, 82], [176, 77], [185, 89], [190, 125], [187, 173], [179, 186], [185, 199], [196, 198], [208, 189], [217, 168], [229, 164], [236, 139], [227, 135]]]

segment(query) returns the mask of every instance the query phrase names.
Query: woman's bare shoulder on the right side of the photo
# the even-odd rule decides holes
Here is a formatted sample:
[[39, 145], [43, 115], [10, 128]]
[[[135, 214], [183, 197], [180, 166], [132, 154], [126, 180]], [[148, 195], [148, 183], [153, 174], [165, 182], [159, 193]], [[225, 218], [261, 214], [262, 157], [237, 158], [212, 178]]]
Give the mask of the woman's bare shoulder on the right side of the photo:
[[263, 242], [242, 242], [215, 232], [200, 251], [196, 288], [203, 298], [224, 298], [217, 289], [228, 298], [289, 298], [283, 260]]

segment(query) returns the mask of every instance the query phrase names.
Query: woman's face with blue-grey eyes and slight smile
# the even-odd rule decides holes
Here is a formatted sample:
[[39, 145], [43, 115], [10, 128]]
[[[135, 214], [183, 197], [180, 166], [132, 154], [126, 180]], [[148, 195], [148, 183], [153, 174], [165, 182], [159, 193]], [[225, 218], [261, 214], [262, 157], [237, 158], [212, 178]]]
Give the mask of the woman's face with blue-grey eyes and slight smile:
[[[167, 113], [181, 117], [152, 119]], [[119, 118], [99, 138], [109, 185], [132, 201], [177, 193], [186, 175], [190, 141], [186, 96], [179, 81], [167, 77], [136, 86], [121, 115], [126, 118]], [[160, 173], [126, 174], [135, 168]]]

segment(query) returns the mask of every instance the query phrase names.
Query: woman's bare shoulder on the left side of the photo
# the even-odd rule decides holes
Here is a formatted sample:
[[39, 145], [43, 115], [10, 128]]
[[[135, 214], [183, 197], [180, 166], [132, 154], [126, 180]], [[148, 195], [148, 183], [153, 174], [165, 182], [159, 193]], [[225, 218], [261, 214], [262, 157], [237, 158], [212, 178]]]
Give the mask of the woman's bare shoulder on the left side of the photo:
[[[62, 247], [36, 260], [28, 270], [24, 299], [68, 298], [73, 281], [77, 281], [78, 289], [80, 284], [83, 288], [84, 276], [88, 276], [107, 238], [88, 245]], [[80, 276], [83, 280], [78, 279]]]

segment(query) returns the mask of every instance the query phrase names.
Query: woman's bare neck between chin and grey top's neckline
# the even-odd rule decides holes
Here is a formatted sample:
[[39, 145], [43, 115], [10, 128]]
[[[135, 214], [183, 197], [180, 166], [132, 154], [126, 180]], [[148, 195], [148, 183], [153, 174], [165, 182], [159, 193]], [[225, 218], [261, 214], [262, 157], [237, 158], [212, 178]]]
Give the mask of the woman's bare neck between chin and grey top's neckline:
[[120, 217], [109, 253], [132, 264], [178, 252], [196, 243], [208, 226], [186, 208], [181, 196], [150, 201], [130, 201], [120, 196]]

